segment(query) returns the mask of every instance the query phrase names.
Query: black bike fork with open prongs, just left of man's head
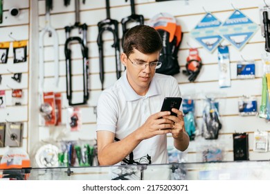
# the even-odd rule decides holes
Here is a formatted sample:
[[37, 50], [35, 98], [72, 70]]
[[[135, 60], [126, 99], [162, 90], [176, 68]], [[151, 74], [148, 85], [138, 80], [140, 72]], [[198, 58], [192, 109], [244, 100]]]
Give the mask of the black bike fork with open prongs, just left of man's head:
[[99, 60], [100, 60], [100, 82], [101, 89], [103, 90], [104, 83], [104, 61], [103, 61], [103, 40], [102, 34], [105, 31], [109, 31], [114, 35], [114, 44], [111, 47], [115, 48], [116, 53], [116, 77], [117, 79], [121, 76], [121, 63], [120, 63], [120, 44], [118, 38], [118, 21], [115, 19], [111, 19], [110, 11], [109, 11], [109, 0], [106, 0], [106, 11], [107, 11], [107, 19], [104, 19], [98, 22], [98, 51], [99, 51]]

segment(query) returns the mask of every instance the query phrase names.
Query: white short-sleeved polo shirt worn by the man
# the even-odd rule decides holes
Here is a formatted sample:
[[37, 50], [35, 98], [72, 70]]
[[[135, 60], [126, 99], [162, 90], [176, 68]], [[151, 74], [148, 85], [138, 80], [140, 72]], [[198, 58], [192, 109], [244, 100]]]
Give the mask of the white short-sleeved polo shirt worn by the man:
[[[114, 85], [100, 94], [96, 130], [110, 131], [115, 133], [117, 139], [124, 139], [141, 127], [150, 115], [161, 111], [165, 97], [177, 96], [181, 96], [177, 80], [159, 73], [155, 73], [147, 94], [139, 96], [129, 85], [125, 71]], [[148, 164], [148, 161], [145, 161], [147, 155], [151, 157], [152, 164], [167, 164], [166, 135], [157, 135], [141, 141], [133, 150], [133, 155], [134, 161], [141, 164]]]

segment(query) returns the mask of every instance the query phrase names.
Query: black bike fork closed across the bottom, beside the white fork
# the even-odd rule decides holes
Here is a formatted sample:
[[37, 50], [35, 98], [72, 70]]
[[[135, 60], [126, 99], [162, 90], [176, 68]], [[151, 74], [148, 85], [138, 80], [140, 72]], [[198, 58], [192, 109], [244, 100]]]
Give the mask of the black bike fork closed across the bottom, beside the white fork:
[[[71, 30], [78, 28], [81, 37], [70, 37]], [[66, 42], [64, 44], [64, 54], [66, 56], [66, 98], [69, 100], [69, 105], [85, 105], [89, 99], [89, 62], [88, 62], [88, 47], [87, 47], [87, 24], [80, 24], [80, 0], [75, 0], [75, 24], [66, 26]], [[82, 51], [82, 69], [83, 69], [83, 100], [80, 103], [73, 103], [72, 90], [72, 67], [71, 67], [71, 42], [78, 42]]]

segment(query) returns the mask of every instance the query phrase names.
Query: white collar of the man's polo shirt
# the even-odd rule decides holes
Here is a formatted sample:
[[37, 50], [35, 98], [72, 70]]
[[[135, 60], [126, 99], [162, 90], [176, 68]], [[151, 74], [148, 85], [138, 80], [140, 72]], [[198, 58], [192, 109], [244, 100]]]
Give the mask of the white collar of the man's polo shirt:
[[145, 97], [150, 97], [150, 96], [156, 96], [161, 94], [161, 89], [159, 85], [156, 82], [156, 78], [152, 79], [150, 82], [150, 87], [147, 91], [147, 94], [145, 96], [140, 96], [136, 94], [134, 89], [129, 85], [129, 82], [127, 80], [127, 71], [124, 71], [123, 76], [120, 78], [120, 87], [123, 89], [123, 94], [125, 96], [125, 100], [127, 101], [133, 101], [133, 100], [138, 100], [140, 98], [145, 98]]

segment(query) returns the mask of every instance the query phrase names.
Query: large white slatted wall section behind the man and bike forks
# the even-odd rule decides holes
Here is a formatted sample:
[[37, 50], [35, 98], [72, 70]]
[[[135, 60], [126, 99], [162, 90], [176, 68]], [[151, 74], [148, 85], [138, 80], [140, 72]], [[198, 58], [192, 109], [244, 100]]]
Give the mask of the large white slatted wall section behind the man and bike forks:
[[[45, 1], [39, 1], [39, 30], [44, 27], [44, 3]], [[123, 17], [130, 15], [129, 1], [115, 0], [110, 1], [111, 18], [119, 21], [119, 38], [122, 38], [122, 27], [120, 20]], [[237, 0], [233, 1], [221, 1], [216, 3], [214, 0], [206, 1], [164, 1], [155, 2], [154, 0], [136, 1], [136, 13], [142, 14], [145, 17], [145, 21], [151, 19], [159, 12], [170, 12], [177, 18], [177, 21], [182, 26], [183, 40], [178, 52], [178, 61], [181, 65], [181, 71], [186, 67], [186, 58], [188, 57], [188, 48], [195, 47], [199, 49], [199, 55], [201, 56], [203, 67], [199, 76], [194, 83], [188, 82], [188, 77], [183, 73], [179, 73], [174, 77], [179, 82], [179, 87], [182, 94], [192, 93], [195, 94], [195, 109], [198, 125], [202, 122], [202, 110], [203, 101], [201, 100], [205, 94], [214, 93], [219, 94], [217, 100], [219, 101], [220, 114], [222, 114], [222, 130], [220, 130], [220, 142], [227, 141], [228, 147], [226, 148], [226, 161], [233, 160], [233, 147], [232, 147], [232, 134], [234, 132], [249, 132], [252, 134], [254, 130], [267, 130], [269, 123], [266, 123], [264, 119], [258, 118], [258, 116], [238, 116], [237, 101], [238, 97], [242, 95], [251, 95], [258, 97], [258, 106], [260, 105], [260, 96], [262, 92], [262, 62], [261, 54], [264, 52], [264, 37], [261, 36], [260, 30], [258, 30], [249, 42], [242, 48], [241, 51], [235, 49], [230, 43], [224, 40], [222, 45], [228, 45], [230, 51], [231, 60], [231, 87], [219, 88], [218, 83], [218, 61], [217, 51], [209, 53], [206, 49], [202, 48], [192, 37], [190, 37], [190, 30], [195, 28], [197, 23], [204, 17], [206, 11], [212, 12], [215, 17], [220, 21], [225, 21], [233, 12], [234, 8], [240, 9], [246, 16], [252, 19], [256, 24], [260, 25], [258, 2]], [[89, 48], [89, 95], [90, 98], [87, 105], [82, 107], [82, 131], [75, 134], [69, 134], [68, 138], [80, 138], [82, 136], [93, 136], [93, 132], [96, 130], [96, 115], [93, 114], [93, 107], [98, 102], [98, 97], [101, 93], [101, 84], [99, 78], [99, 60], [98, 60], [98, 45], [96, 39], [98, 36], [98, 21], [105, 19], [106, 9], [104, 1], [89, 1], [83, 5], [80, 3], [80, 21], [88, 25], [87, 31], [87, 46]], [[150, 11], [151, 10], [151, 11]], [[71, 1], [71, 5], [64, 6], [62, 1], [57, 1], [51, 12], [51, 25], [56, 28], [60, 42], [60, 85], [55, 88], [53, 86], [53, 39], [47, 35], [44, 37], [45, 53], [45, 82], [44, 89], [46, 91], [60, 91], [62, 92], [62, 109], [63, 116], [66, 118], [66, 108], [69, 107], [66, 100], [66, 72], [65, 72], [65, 56], [64, 56], [64, 42], [66, 40], [64, 26], [73, 25], [75, 21], [75, 8], [74, 1]], [[1, 30], [1, 28], [0, 28]], [[76, 31], [73, 35], [78, 35]], [[105, 87], [113, 84], [116, 81], [116, 69], [114, 48], [111, 48], [113, 43], [113, 37], [110, 33], [105, 33], [104, 39], [104, 61], [105, 61]], [[73, 51], [73, 98], [79, 100], [82, 96], [82, 60], [80, 53], [80, 46], [73, 44], [71, 46]], [[255, 60], [255, 79], [253, 80], [240, 80], [236, 78], [236, 63], [239, 60]], [[124, 67], [123, 67], [124, 69]], [[6, 78], [5, 78], [6, 79]], [[64, 120], [63, 120], [64, 121]], [[91, 124], [89, 124], [91, 123]], [[44, 127], [40, 127], [42, 134], [47, 134]], [[40, 137], [42, 138], [42, 134]], [[45, 135], [45, 136], [46, 136]], [[250, 143], [252, 141], [250, 140]], [[172, 138], [168, 137], [168, 145], [172, 144]], [[190, 142], [190, 153], [188, 158], [190, 162], [197, 161], [196, 143]], [[199, 144], [199, 142], [197, 142]], [[250, 145], [251, 146], [251, 145]], [[269, 153], [254, 153], [251, 151], [251, 159], [267, 159]]]

